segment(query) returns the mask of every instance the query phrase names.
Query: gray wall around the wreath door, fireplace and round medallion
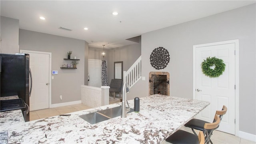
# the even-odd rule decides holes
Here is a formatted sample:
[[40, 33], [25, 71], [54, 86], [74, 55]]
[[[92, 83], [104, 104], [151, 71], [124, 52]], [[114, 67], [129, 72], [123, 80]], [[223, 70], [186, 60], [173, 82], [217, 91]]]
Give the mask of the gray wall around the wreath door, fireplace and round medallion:
[[[256, 134], [256, 5], [142, 34], [142, 76], [135, 88], [148, 95], [150, 54], [162, 46], [170, 53], [170, 95], [193, 98], [193, 45], [239, 39], [239, 130]], [[129, 93], [130, 94], [130, 93]]]

